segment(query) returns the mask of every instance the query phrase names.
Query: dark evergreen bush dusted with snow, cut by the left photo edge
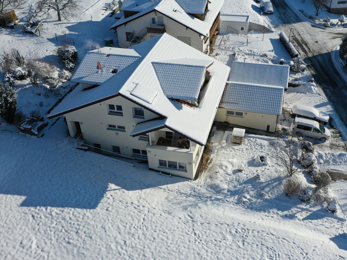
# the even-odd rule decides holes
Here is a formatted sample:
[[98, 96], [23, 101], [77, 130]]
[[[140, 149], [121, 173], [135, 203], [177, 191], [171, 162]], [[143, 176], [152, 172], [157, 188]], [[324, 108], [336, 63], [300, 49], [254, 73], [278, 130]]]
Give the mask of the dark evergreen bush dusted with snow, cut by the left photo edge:
[[17, 106], [16, 89], [0, 81], [0, 115], [9, 123], [14, 122]]

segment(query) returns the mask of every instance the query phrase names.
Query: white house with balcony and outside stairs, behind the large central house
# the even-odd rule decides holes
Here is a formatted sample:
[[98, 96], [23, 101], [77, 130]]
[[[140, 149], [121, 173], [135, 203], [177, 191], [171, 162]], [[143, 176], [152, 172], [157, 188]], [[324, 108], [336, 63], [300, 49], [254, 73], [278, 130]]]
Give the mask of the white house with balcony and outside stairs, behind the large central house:
[[[219, 31], [223, 0], [124, 0], [122, 17], [110, 29], [127, 48], [166, 32], [206, 54]], [[117, 17], [119, 18], [119, 17]]]

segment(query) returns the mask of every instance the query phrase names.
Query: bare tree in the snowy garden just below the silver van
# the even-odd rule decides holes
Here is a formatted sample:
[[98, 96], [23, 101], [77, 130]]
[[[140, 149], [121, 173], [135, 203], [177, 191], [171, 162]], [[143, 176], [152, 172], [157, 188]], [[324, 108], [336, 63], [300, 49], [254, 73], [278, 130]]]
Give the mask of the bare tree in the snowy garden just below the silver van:
[[279, 166], [288, 176], [291, 177], [301, 171], [298, 163], [301, 141], [278, 138], [272, 141], [272, 145], [276, 149], [274, 157], [278, 159]]

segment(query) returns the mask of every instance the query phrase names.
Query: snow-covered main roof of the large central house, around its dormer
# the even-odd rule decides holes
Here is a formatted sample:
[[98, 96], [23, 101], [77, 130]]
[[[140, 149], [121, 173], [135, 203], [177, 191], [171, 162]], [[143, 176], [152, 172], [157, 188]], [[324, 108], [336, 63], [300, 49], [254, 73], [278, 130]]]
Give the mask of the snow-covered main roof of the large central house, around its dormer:
[[[230, 68], [168, 34], [139, 43], [130, 47], [130, 50], [136, 51], [141, 57], [125, 69], [115, 73], [112, 78], [99, 87], [82, 91], [81, 84], [78, 85], [53, 109], [48, 118], [64, 115], [120, 95], [166, 118], [167, 128], [181, 133], [197, 144], [204, 145], [209, 136]], [[152, 63], [174, 59], [193, 59], [191, 60], [193, 64], [196, 64], [194, 59], [198, 59], [206, 67], [208, 64], [206, 60], [211, 63], [213, 61], [209, 67], [210, 75], [212, 75], [209, 87], [199, 107], [193, 108], [181, 104], [167, 98], [164, 94]], [[151, 97], [132, 95], [132, 91], [137, 86], [145, 86], [147, 90], [151, 89], [153, 95], [155, 92], [157, 93], [151, 103], [147, 101], [153, 95]]]

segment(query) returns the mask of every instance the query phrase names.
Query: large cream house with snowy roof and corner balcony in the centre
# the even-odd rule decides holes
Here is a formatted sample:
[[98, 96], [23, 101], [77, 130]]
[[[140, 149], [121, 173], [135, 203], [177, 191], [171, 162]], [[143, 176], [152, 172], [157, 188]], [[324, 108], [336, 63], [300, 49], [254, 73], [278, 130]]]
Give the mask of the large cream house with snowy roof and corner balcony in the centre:
[[71, 79], [80, 84], [48, 118], [64, 115], [86, 145], [194, 179], [229, 71], [168, 34], [103, 47], [86, 54]]

